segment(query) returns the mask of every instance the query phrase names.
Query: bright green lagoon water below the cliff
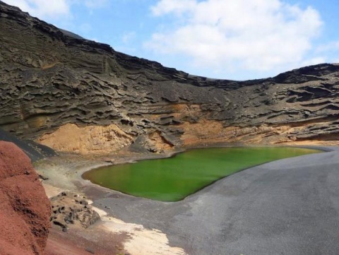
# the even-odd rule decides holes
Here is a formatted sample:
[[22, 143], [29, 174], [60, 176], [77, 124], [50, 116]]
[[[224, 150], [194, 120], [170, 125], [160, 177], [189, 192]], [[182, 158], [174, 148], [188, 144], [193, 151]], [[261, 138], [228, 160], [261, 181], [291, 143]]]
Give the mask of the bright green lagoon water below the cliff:
[[100, 167], [83, 174], [84, 179], [159, 201], [179, 201], [216, 180], [264, 162], [290, 158], [319, 150], [307, 148], [204, 148], [172, 158]]

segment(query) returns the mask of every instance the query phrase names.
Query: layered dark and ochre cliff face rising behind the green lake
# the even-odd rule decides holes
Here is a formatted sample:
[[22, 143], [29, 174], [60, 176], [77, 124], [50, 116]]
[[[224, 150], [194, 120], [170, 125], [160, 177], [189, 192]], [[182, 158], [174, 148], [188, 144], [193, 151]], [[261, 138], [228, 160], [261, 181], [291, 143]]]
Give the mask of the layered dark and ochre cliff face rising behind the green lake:
[[153, 152], [213, 142], [338, 143], [338, 65], [254, 81], [190, 76], [1, 1], [0, 30], [0, 127], [20, 138], [78, 153], [132, 143]]

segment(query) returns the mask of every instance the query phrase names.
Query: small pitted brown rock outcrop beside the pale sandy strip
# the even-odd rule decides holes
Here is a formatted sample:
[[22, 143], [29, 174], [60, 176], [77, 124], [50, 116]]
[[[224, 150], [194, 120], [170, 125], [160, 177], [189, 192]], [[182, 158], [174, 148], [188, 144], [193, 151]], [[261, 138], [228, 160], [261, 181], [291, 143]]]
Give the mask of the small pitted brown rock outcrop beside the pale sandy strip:
[[69, 227], [89, 227], [100, 219], [100, 215], [88, 204], [85, 196], [64, 191], [50, 198], [51, 222], [66, 232]]

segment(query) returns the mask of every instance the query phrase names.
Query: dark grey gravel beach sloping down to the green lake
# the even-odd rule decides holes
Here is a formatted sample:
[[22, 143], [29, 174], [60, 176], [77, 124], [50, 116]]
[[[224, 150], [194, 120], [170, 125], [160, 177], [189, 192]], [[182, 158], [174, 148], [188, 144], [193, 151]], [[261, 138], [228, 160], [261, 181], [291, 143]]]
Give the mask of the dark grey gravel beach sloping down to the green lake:
[[190, 255], [339, 254], [339, 148], [270, 162], [184, 201], [112, 191], [95, 200], [129, 223], [165, 232]]

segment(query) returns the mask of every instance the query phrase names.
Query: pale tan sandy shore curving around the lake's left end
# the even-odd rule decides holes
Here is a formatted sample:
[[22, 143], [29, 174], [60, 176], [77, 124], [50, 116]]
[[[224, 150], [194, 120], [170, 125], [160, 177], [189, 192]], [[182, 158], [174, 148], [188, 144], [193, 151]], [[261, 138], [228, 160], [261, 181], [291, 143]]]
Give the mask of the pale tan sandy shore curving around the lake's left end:
[[[48, 179], [43, 181], [43, 186], [48, 197], [56, 196], [61, 191], [76, 191], [84, 193], [88, 197], [94, 200], [97, 197], [105, 196], [107, 193], [114, 193], [121, 196], [117, 191], [111, 191], [109, 189], [102, 188], [95, 184], [90, 183], [88, 180], [81, 178], [81, 175], [88, 170], [104, 165], [111, 165], [112, 162], [115, 164], [123, 162], [133, 162], [135, 160], [147, 159], [147, 158], [164, 158], [172, 155], [144, 155], [144, 154], [120, 154], [111, 155], [109, 157], [97, 157], [97, 156], [81, 156], [72, 154], [61, 154], [56, 157], [47, 158], [35, 162], [35, 169], [39, 174]], [[90, 201], [93, 203], [93, 201]], [[101, 205], [99, 207], [93, 206], [93, 209], [100, 214], [100, 222], [90, 226], [86, 230], [82, 230], [81, 234], [78, 231], [73, 231], [69, 234], [63, 234], [61, 231], [58, 232], [57, 227], [52, 230], [52, 237], [49, 240], [49, 247], [47, 247], [47, 254], [58, 254], [51, 253], [58, 245], [58, 242], [62, 241], [65, 236], [72, 235], [74, 242], [77, 242], [79, 238], [86, 238], [84, 233], [91, 233], [88, 235], [89, 240], [93, 241], [93, 233], [95, 235], [105, 236], [108, 234], [114, 235], [114, 240], [118, 240], [117, 244], [114, 244], [114, 248], [121, 247], [119, 254], [131, 254], [131, 255], [185, 255], [184, 249], [179, 247], [171, 247], [169, 240], [164, 232], [157, 229], [149, 229], [143, 227], [141, 224], [124, 222], [114, 217], [112, 214], [111, 207]], [[119, 237], [121, 236], [121, 237]], [[113, 240], [112, 240], [113, 241]], [[109, 241], [107, 241], [109, 242]], [[112, 242], [111, 242], [112, 243]], [[88, 244], [89, 245], [89, 244]], [[70, 245], [66, 250], [59, 251], [71, 252]], [[83, 251], [83, 250], [82, 250]], [[79, 254], [79, 249], [73, 249], [73, 254]], [[86, 251], [84, 254], [87, 254]], [[82, 253], [80, 253], [82, 254]], [[100, 253], [95, 253], [100, 254]]]

